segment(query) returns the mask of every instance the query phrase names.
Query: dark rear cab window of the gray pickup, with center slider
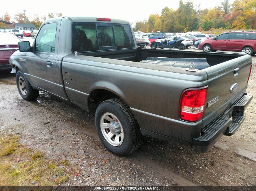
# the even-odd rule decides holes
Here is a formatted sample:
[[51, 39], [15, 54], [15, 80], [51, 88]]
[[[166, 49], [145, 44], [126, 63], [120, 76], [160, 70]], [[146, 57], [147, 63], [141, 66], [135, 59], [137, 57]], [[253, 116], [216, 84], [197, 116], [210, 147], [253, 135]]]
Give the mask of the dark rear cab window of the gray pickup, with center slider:
[[73, 22], [72, 51], [88, 52], [133, 48], [133, 36], [128, 24]]

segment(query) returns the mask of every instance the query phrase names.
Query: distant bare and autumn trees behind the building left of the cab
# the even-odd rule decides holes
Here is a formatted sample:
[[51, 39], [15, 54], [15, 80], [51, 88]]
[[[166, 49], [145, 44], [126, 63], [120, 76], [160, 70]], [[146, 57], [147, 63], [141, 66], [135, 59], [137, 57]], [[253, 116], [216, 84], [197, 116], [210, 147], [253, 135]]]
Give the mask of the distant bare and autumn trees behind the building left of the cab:
[[[48, 15], [44, 15], [41, 17], [41, 19], [39, 18], [38, 14], [35, 14], [35, 18], [30, 21], [28, 19], [28, 16], [24, 13], [17, 13], [14, 15], [14, 19], [17, 21], [17, 23], [31, 23], [31, 24], [34, 24], [35, 28], [36, 29], [39, 29], [40, 26], [42, 25], [42, 20], [45, 21], [46, 19], [48, 18], [54, 18], [54, 17], [61, 17], [63, 16], [62, 13], [56, 13], [56, 16], [55, 14], [53, 13], [48, 13]], [[4, 16], [2, 16], [2, 20], [4, 21], [8, 21], [8, 22], [11, 22], [10, 21], [11, 19], [11, 16], [8, 14], [8, 13], [5, 13]], [[13, 24], [15, 24], [15, 22], [12, 21]], [[0, 28], [7, 28], [8, 26], [2, 22], [0, 22]]]

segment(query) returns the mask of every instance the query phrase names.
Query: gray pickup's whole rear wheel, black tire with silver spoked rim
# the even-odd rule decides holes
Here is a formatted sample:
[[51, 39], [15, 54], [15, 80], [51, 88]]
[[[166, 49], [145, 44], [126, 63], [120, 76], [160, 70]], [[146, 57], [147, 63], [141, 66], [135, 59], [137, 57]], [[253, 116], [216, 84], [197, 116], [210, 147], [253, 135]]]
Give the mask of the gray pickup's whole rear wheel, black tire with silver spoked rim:
[[138, 122], [120, 98], [99, 104], [95, 113], [95, 126], [103, 145], [114, 154], [126, 156], [141, 145], [142, 135]]

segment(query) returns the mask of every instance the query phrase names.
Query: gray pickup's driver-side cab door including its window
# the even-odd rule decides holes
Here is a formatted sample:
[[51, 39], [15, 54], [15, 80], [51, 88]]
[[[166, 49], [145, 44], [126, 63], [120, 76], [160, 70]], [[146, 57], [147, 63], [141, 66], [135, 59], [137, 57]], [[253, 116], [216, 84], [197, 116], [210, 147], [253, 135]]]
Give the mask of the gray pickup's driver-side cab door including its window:
[[44, 24], [38, 32], [34, 51], [26, 55], [28, 74], [36, 87], [68, 99], [63, 85], [61, 61], [56, 61], [60, 22]]

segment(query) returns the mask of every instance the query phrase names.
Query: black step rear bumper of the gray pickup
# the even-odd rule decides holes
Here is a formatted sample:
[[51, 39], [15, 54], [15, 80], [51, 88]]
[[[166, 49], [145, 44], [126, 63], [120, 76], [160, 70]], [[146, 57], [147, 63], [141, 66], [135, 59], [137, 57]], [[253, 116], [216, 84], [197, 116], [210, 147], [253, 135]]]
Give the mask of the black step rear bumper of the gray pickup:
[[[244, 121], [244, 110], [253, 94], [245, 93], [230, 108], [214, 119], [201, 131], [201, 136], [193, 138], [192, 145], [198, 152], [208, 151], [222, 135], [233, 135]], [[232, 118], [231, 118], [232, 117]]]

